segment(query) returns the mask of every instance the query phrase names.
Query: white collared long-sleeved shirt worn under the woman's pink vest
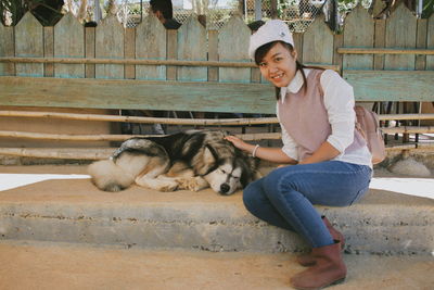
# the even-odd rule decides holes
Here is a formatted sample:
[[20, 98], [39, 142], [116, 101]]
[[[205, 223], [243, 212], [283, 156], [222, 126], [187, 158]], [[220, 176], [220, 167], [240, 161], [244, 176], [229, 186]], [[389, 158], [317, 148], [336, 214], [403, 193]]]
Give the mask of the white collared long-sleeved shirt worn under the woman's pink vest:
[[[311, 70], [305, 68], [306, 77]], [[304, 80], [301, 72], [297, 72], [288, 87], [280, 90], [280, 101], [283, 103], [286, 93], [296, 93], [303, 87]], [[354, 128], [356, 114], [354, 111], [354, 92], [353, 87], [346, 83], [336, 72], [326, 70], [320, 78], [321, 88], [323, 91], [324, 106], [328, 112], [329, 123], [332, 127], [332, 134], [328, 137], [327, 141], [341, 152], [334, 160], [345, 161], [349, 163], [369, 165], [371, 164], [371, 153], [367, 147], [358, 151], [344, 153], [345, 149], [352, 144], [354, 140]], [[278, 118], [279, 110], [277, 111]], [[282, 130], [282, 151], [291, 159], [298, 160], [297, 143], [284, 129], [280, 122]]]

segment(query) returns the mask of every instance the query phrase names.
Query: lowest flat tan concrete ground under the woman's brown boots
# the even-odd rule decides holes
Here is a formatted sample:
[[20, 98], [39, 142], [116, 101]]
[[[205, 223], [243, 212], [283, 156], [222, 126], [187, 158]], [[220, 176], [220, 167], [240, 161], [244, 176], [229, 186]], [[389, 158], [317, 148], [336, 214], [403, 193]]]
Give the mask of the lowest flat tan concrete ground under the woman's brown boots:
[[[292, 289], [304, 268], [292, 253], [155, 251], [0, 242], [0, 289]], [[430, 256], [344, 255], [346, 280], [330, 289], [429, 290]]]

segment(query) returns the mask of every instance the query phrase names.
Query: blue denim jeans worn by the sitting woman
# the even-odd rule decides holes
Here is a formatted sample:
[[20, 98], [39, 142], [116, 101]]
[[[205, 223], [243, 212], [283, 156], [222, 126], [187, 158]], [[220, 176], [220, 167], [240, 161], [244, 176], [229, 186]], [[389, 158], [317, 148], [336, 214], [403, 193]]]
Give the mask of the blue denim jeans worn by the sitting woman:
[[314, 204], [346, 206], [369, 188], [371, 168], [341, 161], [277, 168], [250, 184], [245, 207], [256, 217], [298, 232], [314, 248], [334, 243]]

